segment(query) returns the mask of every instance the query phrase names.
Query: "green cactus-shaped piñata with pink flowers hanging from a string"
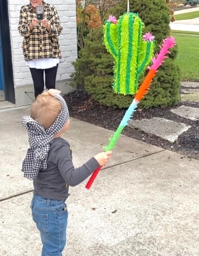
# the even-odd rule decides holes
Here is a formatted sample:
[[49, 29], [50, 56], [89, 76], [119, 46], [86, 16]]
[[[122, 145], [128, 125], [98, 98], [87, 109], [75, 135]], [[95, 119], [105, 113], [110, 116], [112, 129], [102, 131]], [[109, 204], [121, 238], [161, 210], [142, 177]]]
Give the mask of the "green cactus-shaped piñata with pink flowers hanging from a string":
[[114, 58], [114, 83], [116, 93], [135, 94], [138, 79], [149, 65], [154, 53], [154, 36], [142, 37], [143, 21], [136, 13], [124, 13], [117, 21], [114, 16], [104, 25], [103, 41]]

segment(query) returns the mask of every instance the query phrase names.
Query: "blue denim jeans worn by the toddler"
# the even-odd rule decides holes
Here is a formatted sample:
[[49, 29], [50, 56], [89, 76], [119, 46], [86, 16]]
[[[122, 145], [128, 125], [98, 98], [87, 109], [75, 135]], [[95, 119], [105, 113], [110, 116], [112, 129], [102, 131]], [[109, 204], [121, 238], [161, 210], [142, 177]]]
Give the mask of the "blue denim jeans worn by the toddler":
[[66, 245], [68, 218], [65, 200], [33, 195], [31, 210], [43, 244], [41, 256], [62, 256]]

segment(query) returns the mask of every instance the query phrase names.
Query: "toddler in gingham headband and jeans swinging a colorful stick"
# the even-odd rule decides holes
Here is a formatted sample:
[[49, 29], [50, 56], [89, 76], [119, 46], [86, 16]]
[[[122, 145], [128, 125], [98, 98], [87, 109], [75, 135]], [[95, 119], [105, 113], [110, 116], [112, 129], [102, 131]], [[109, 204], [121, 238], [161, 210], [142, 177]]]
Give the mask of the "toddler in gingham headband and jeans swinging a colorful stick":
[[30, 143], [22, 171], [33, 179], [31, 210], [41, 235], [42, 256], [61, 256], [66, 245], [69, 186], [80, 184], [97, 167], [106, 165], [112, 153], [102, 152], [74, 168], [71, 146], [60, 137], [69, 123], [66, 102], [54, 89], [40, 94], [31, 105], [31, 116], [22, 117]]

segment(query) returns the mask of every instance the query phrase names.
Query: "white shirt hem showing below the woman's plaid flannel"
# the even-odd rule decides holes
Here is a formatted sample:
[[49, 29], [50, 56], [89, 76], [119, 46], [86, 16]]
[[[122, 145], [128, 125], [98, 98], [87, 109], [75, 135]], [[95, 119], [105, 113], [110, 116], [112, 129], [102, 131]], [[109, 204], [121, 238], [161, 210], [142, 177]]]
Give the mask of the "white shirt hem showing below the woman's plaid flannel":
[[34, 59], [34, 60], [27, 60], [26, 64], [29, 68], [36, 68], [36, 69], [47, 69], [53, 68], [58, 63], [60, 63], [60, 58], [42, 58], [42, 59]]

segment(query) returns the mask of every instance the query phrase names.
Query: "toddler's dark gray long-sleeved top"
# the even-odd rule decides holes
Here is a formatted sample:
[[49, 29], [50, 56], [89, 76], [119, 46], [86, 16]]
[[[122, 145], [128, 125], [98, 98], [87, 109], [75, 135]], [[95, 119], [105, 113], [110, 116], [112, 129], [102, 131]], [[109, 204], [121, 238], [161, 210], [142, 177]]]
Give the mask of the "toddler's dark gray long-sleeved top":
[[34, 178], [34, 193], [44, 198], [64, 200], [69, 196], [69, 186], [76, 186], [84, 181], [99, 167], [92, 157], [79, 168], [72, 163], [72, 150], [63, 138], [55, 138], [50, 145], [47, 169], [40, 170]]

